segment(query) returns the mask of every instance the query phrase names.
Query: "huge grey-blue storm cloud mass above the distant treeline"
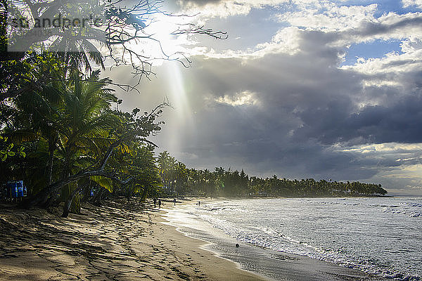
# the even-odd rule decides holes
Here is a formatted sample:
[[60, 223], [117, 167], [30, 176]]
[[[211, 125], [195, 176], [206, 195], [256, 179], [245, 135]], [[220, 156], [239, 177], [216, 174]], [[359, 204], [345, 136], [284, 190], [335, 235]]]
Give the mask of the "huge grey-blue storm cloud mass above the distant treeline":
[[[300, 36], [295, 55], [193, 58], [191, 68], [181, 68], [193, 125], [177, 123], [166, 110], [168, 122], [156, 142], [167, 149], [177, 139], [178, 150], [170, 152], [188, 166], [231, 166], [265, 176], [362, 180], [399, 166], [399, 151], [362, 154], [342, 147], [422, 142], [421, 72], [369, 75], [338, 69], [345, 50], [328, 44], [340, 40], [340, 34], [304, 31]], [[400, 63], [415, 62], [388, 66]], [[141, 96], [124, 96], [123, 106], [145, 110], [169, 96], [174, 76], [163, 67], [157, 72], [158, 79], [142, 82]], [[126, 70], [113, 77], [130, 79]], [[366, 79], [400, 81], [402, 86], [364, 86]], [[253, 93], [256, 103], [224, 104], [244, 91]], [[378, 100], [378, 105], [361, 108], [362, 100]], [[335, 143], [343, 146], [335, 148]]]

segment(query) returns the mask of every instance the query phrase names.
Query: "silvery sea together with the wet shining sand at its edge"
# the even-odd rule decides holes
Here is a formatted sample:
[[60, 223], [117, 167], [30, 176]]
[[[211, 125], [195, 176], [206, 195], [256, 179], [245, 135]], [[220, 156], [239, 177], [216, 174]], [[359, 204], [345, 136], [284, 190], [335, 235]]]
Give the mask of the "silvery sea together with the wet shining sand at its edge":
[[[422, 280], [421, 197], [203, 200], [168, 209], [165, 218], [210, 242], [207, 249], [219, 256], [272, 280], [283, 274], [278, 253], [385, 279]], [[235, 244], [270, 262], [245, 258]]]

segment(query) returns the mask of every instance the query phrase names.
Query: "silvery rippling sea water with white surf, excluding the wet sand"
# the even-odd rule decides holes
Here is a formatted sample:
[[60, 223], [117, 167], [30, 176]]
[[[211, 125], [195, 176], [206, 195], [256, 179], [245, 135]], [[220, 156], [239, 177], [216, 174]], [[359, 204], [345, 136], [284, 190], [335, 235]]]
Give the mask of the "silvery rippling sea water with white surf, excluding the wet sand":
[[[394, 247], [388, 254], [393, 240], [385, 241], [389, 243], [388, 247], [387, 244], [383, 246], [389, 232], [381, 234], [378, 228], [378, 222], [390, 219], [382, 214], [402, 215], [401, 219], [395, 219], [395, 226], [399, 226], [400, 231], [407, 229], [406, 223], [411, 223], [409, 226], [418, 224], [418, 220], [413, 218], [422, 218], [420, 202], [401, 198], [251, 200], [201, 208], [200, 218], [236, 240], [257, 247], [309, 256], [395, 280], [422, 280], [422, 270], [414, 265], [418, 259], [411, 258], [418, 256], [416, 248], [406, 254], [397, 252], [401, 258], [394, 258]], [[371, 238], [368, 230], [377, 235], [372, 236], [370, 241], [379, 244], [366, 244], [366, 240]], [[319, 236], [316, 233], [320, 233]], [[380, 237], [378, 235], [382, 235], [383, 239], [376, 239]], [[360, 243], [362, 246], [359, 246]], [[378, 250], [371, 249], [382, 249], [385, 253], [378, 254]], [[397, 259], [404, 260], [397, 263]]]

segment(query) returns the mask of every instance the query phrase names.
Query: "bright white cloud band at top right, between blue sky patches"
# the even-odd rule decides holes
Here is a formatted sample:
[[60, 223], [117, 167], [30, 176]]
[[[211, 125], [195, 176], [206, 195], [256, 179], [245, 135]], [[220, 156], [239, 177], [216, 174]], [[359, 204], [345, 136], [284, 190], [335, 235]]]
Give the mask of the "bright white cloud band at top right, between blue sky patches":
[[399, 15], [390, 12], [376, 18], [374, 15], [377, 8], [377, 4], [339, 7], [327, 3], [322, 12], [305, 9], [283, 13], [278, 18], [293, 27], [335, 35], [337, 40], [331, 43], [332, 46], [347, 46], [376, 39], [422, 39], [422, 13]]

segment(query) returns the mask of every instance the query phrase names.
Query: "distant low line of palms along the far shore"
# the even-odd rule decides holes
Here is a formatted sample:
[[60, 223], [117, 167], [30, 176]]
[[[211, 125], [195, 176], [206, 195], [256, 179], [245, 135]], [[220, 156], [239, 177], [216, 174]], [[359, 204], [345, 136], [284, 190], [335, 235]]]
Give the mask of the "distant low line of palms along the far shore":
[[168, 195], [205, 195], [225, 197], [335, 197], [383, 196], [387, 191], [381, 184], [315, 181], [313, 178], [289, 180], [286, 178], [258, 178], [242, 171], [222, 167], [215, 171], [188, 169], [168, 152], [158, 157], [163, 192]]

